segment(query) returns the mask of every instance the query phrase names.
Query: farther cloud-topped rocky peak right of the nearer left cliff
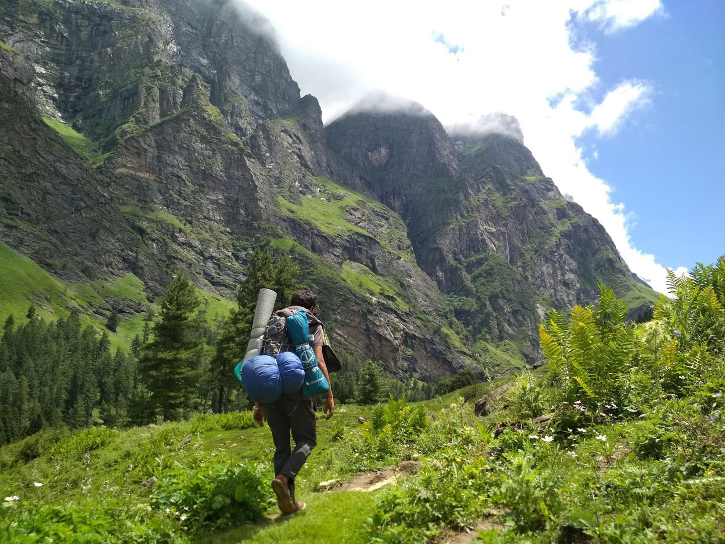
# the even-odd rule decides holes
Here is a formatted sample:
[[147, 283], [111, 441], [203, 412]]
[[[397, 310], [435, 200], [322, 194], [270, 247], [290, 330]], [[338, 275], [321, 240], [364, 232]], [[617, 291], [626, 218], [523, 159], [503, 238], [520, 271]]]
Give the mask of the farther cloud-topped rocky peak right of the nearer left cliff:
[[425, 111], [353, 111], [328, 145], [405, 220], [418, 265], [476, 339], [538, 358], [548, 308], [595, 300], [597, 281], [633, 306], [652, 300], [592, 216], [562, 197], [518, 139], [451, 138]]

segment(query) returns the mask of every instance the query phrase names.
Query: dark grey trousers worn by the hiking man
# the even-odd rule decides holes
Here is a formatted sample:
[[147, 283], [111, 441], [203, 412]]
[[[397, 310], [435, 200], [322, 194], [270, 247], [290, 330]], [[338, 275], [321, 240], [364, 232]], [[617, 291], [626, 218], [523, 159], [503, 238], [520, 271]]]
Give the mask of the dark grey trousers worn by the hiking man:
[[[265, 404], [265, 418], [274, 440], [274, 471], [288, 478], [289, 493], [294, 501], [294, 479], [317, 445], [317, 429], [312, 400], [281, 398]], [[292, 434], [294, 448], [289, 443]]]

